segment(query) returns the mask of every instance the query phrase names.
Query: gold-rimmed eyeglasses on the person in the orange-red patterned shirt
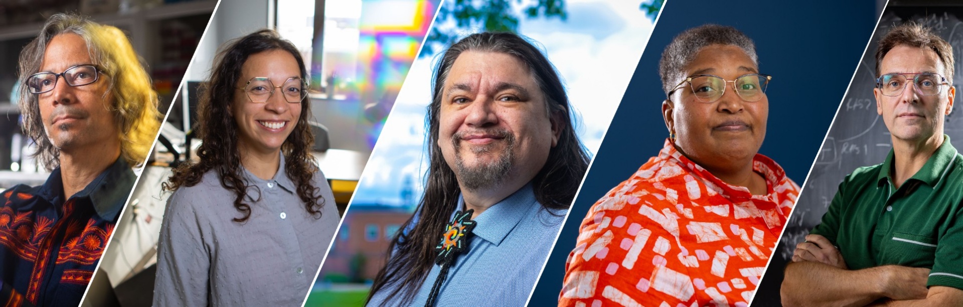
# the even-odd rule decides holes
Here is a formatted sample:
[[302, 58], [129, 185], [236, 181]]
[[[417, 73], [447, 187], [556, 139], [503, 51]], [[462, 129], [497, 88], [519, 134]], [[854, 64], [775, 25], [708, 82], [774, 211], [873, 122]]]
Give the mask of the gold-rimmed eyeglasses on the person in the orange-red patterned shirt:
[[772, 76], [761, 73], [745, 74], [732, 81], [727, 81], [716, 75], [691, 75], [670, 90], [666, 96], [671, 96], [673, 91], [679, 90], [679, 87], [688, 82], [696, 99], [705, 103], [713, 103], [722, 97], [726, 85], [732, 82], [733, 90], [736, 90], [736, 94], [742, 100], [754, 102], [766, 96], [769, 80], [772, 80]]

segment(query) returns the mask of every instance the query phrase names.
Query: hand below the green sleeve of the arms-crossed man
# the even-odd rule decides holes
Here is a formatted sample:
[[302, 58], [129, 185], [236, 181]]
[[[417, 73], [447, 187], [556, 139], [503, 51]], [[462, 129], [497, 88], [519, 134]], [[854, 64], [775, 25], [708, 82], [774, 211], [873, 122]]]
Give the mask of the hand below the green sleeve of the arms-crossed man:
[[929, 269], [909, 268], [902, 266], [883, 266], [882, 270], [883, 294], [896, 300], [924, 299], [929, 290], [926, 289], [926, 279]]

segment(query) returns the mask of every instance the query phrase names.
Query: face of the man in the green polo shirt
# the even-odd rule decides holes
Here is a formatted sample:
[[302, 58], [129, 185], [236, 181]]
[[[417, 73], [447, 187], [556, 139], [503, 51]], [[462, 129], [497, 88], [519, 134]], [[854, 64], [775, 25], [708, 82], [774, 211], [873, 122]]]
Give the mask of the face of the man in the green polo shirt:
[[[890, 49], [879, 64], [879, 73], [933, 72], [946, 74], [946, 66], [936, 52], [929, 49], [897, 45]], [[943, 89], [948, 88], [943, 86]], [[886, 128], [894, 141], [925, 141], [943, 137], [943, 117], [950, 115], [956, 89], [940, 90], [924, 96], [914, 89], [912, 82], [897, 96], [886, 96], [878, 88], [872, 89], [876, 97], [876, 113], [882, 115]]]

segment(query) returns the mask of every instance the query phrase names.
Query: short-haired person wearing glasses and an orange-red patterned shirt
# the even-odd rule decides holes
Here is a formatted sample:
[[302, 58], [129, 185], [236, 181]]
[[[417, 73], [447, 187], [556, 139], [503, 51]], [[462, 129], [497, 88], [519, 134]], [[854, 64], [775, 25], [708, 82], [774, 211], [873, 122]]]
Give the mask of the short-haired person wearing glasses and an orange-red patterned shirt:
[[799, 187], [759, 154], [771, 77], [751, 39], [692, 28], [659, 72], [669, 137], [588, 211], [560, 306], [746, 306], [794, 206]]

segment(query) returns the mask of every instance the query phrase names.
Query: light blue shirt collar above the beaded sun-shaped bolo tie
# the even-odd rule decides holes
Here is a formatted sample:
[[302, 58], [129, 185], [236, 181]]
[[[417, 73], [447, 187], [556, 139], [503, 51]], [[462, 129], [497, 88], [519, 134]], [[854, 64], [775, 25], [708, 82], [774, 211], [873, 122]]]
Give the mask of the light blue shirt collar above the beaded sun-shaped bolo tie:
[[[488, 209], [478, 217], [475, 217], [478, 226], [475, 227], [472, 233], [484, 241], [498, 246], [498, 244], [502, 243], [502, 241], [508, 237], [508, 233], [510, 233], [524, 217], [528, 216], [533, 206], [540, 207], [541, 205], [535, 200], [532, 184], [529, 183], [525, 185], [525, 187], [522, 187], [522, 189], [508, 195], [508, 197], [502, 199], [502, 201], [488, 207]], [[459, 194], [457, 210], [465, 210], [464, 207], [464, 198]], [[532, 220], [532, 222], [537, 222], [537, 220]]]

